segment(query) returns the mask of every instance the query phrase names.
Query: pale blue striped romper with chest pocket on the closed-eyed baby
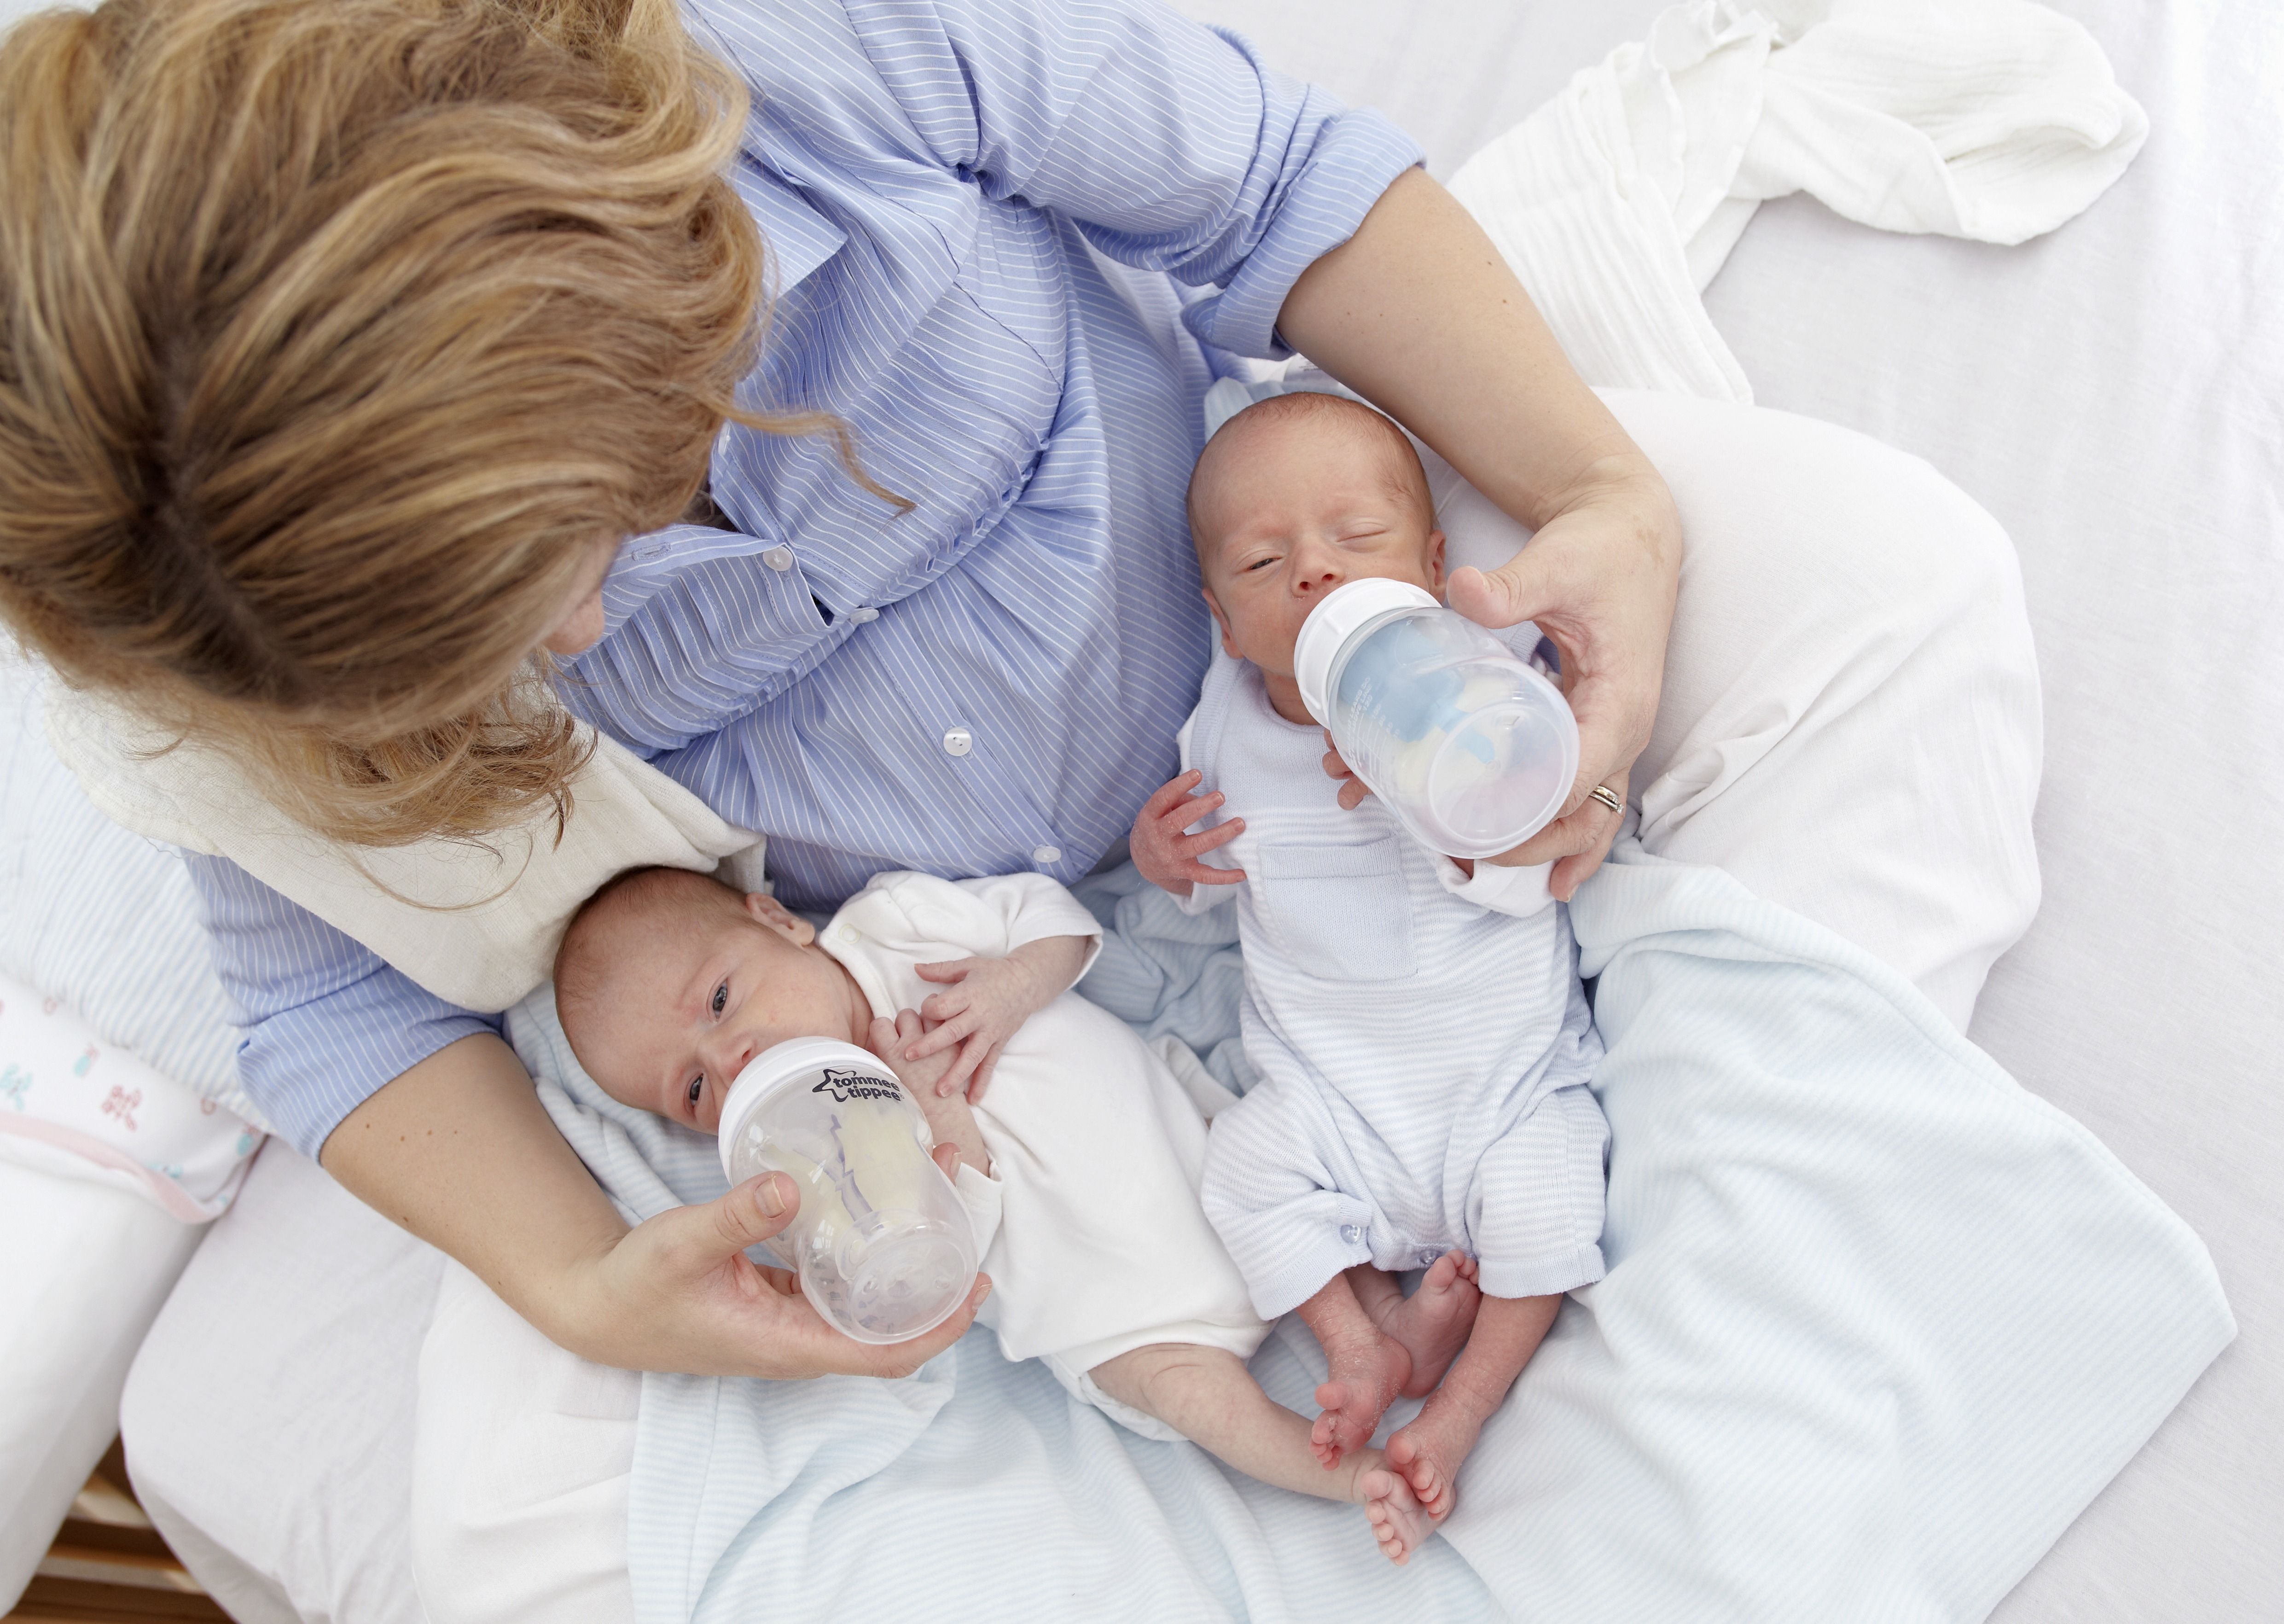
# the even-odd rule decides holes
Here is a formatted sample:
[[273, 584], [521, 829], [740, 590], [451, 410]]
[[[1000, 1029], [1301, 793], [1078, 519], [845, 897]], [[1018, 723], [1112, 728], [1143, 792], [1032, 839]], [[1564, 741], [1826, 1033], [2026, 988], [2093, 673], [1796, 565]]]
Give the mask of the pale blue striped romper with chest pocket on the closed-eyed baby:
[[1341, 811], [1325, 738], [1217, 656], [1183, 767], [1245, 834], [1213, 852], [1245, 884], [1245, 1055], [1261, 1080], [1213, 1119], [1206, 1215], [1277, 1318], [1357, 1263], [1478, 1259], [1494, 1297], [1601, 1279], [1608, 1124], [1569, 914], [1546, 868], [1466, 879], [1380, 799]]

